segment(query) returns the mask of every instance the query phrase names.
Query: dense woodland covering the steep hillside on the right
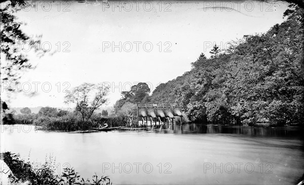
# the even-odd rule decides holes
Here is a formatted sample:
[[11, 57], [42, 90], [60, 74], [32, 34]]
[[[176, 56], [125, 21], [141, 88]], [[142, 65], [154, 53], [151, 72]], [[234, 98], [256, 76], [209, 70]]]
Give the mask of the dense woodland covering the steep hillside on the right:
[[207, 118], [222, 124], [303, 123], [302, 15], [303, 9], [290, 5], [282, 24], [245, 35], [225, 51], [214, 45], [209, 59], [202, 53], [191, 71], [160, 84], [150, 97], [144, 95], [149, 89], [136, 86], [137, 91], [123, 92], [116, 111], [136, 102], [175, 102], [194, 122]]

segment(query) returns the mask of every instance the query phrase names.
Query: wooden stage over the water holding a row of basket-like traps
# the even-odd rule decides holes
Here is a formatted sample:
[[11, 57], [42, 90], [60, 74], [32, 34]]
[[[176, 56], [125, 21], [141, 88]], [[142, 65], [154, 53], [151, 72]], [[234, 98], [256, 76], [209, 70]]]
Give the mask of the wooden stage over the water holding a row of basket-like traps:
[[136, 109], [132, 109], [131, 114], [129, 115], [129, 126], [139, 126], [139, 122], [142, 120], [142, 124], [145, 124], [148, 127], [149, 118], [151, 128], [153, 125], [157, 126], [157, 121], [159, 120], [159, 125], [163, 125], [164, 127], [165, 122], [167, 122], [167, 127], [169, 129], [169, 123], [170, 120], [172, 120], [170, 124], [172, 124], [173, 130], [176, 116], [180, 118], [181, 122], [181, 106], [177, 106], [176, 104], [164, 102], [138, 103], [136, 104]]

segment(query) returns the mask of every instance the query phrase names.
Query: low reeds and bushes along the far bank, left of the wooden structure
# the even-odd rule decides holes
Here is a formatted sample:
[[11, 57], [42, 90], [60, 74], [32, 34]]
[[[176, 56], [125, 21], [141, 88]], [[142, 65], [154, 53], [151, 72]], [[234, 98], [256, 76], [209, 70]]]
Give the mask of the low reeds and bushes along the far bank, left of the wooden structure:
[[22, 114], [4, 113], [3, 124], [33, 124], [45, 130], [75, 131], [88, 130], [107, 123], [109, 127], [125, 126], [126, 116], [103, 117], [101, 113], [93, 113], [88, 121], [83, 121], [77, 110], [66, 111], [52, 107], [43, 107], [39, 113], [31, 113], [29, 108], [21, 109]]

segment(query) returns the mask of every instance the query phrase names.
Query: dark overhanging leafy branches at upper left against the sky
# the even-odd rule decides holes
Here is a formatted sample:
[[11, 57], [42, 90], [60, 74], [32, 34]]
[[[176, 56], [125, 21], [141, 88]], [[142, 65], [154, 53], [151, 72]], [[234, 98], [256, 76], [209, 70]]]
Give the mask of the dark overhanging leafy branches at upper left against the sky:
[[[3, 2], [3, 1], [1, 1]], [[5, 2], [5, 1], [4, 1]], [[35, 47], [35, 51], [40, 57], [45, 54], [41, 48], [36, 45], [41, 42], [41, 35], [33, 38], [25, 34], [20, 26], [21, 22], [17, 22], [17, 18], [13, 15], [14, 12], [21, 10], [24, 6], [30, 6], [28, 2], [23, 0], [6, 1], [3, 5], [6, 7], [0, 9], [1, 14], [1, 54], [4, 54], [5, 61], [2, 59], [1, 76], [2, 81], [17, 81], [21, 77], [21, 72], [24, 69], [32, 69], [32, 65], [28, 62], [27, 56], [22, 53], [14, 45], [27, 43], [30, 47]], [[13, 90], [13, 89], [9, 89]]]

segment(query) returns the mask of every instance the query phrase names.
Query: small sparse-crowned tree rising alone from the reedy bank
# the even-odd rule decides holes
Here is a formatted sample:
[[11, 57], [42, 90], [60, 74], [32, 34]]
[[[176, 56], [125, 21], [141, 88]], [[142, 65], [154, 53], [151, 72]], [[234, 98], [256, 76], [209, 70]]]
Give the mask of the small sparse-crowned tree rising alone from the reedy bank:
[[81, 114], [83, 122], [87, 122], [94, 111], [108, 101], [105, 98], [108, 89], [102, 84], [83, 83], [67, 93], [65, 103], [76, 104], [75, 110]]

